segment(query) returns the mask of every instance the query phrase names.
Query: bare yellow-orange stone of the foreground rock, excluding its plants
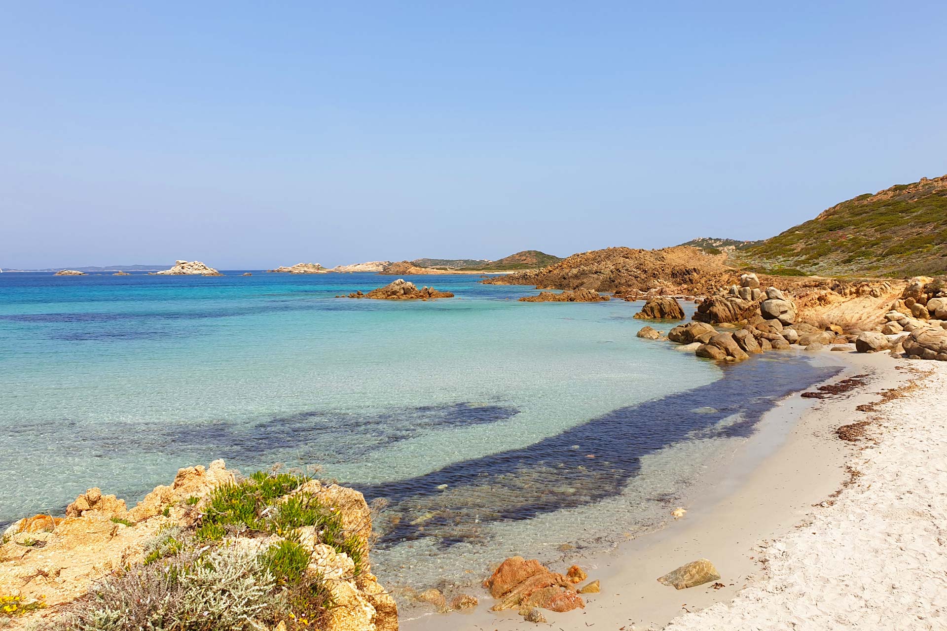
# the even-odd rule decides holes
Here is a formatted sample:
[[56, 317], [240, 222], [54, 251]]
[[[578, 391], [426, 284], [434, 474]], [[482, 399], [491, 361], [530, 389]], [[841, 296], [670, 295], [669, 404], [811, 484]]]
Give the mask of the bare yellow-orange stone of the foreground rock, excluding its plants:
[[[268, 475], [273, 476], [258, 474], [263, 478]], [[255, 480], [259, 478], [255, 477], [250, 483], [255, 483]], [[319, 536], [321, 533], [306, 527], [295, 529], [289, 539], [272, 535], [276, 529], [269, 528], [246, 535], [241, 534], [241, 528], [233, 531], [223, 529], [220, 535], [207, 538], [205, 534], [202, 538], [198, 529], [207, 523], [206, 507], [211, 494], [222, 485], [236, 490], [235, 484], [246, 483], [236, 480], [223, 461], [215, 461], [207, 468], [192, 466], [180, 469], [174, 482], [156, 487], [131, 511], [125, 510], [123, 500], [91, 488], [69, 505], [66, 517], [40, 515], [14, 523], [7, 529], [4, 543], [0, 545], [0, 594], [14, 595], [18, 602], [32, 605], [33, 610], [18, 618], [17, 623], [33, 624], [33, 628], [43, 631], [92, 628], [74, 625], [70, 616], [84, 610], [93, 618], [100, 618], [95, 613], [97, 607], [106, 605], [97, 605], [96, 599], [81, 599], [97, 581], [116, 586], [112, 589], [125, 586], [141, 589], [143, 593], [158, 593], [166, 587], [157, 584], [149, 587], [147, 582], [160, 581], [163, 574], [146, 570], [155, 567], [144, 565], [146, 563], [160, 566], [165, 563], [165, 556], [184, 551], [182, 556], [175, 557], [174, 563], [188, 563], [188, 559], [197, 558], [200, 552], [207, 564], [219, 563], [221, 559], [230, 558], [228, 554], [237, 554], [244, 559], [240, 562], [245, 565], [246, 559], [272, 553], [275, 547], [285, 544], [297, 546], [309, 554], [309, 565], [304, 575], [311, 583], [304, 584], [304, 587], [316, 587], [331, 598], [332, 606], [323, 609], [318, 624], [312, 628], [321, 631], [397, 631], [397, 605], [370, 570], [366, 551], [371, 536], [371, 514], [364, 497], [357, 491], [332, 483], [311, 480], [299, 485], [300, 482], [304, 480], [284, 477], [280, 483], [290, 483], [287, 494], [269, 501], [279, 504], [290, 498], [317, 498], [333, 514], [331, 518], [337, 516], [339, 519], [333, 523], [336, 524], [334, 527], [341, 529], [340, 537], [348, 542], [345, 550], [362, 551], [357, 560], [343, 551], [338, 543], [332, 543], [332, 539], [324, 539]], [[243, 570], [244, 565], [241, 565], [241, 571], [249, 571]], [[122, 577], [127, 574], [140, 577], [135, 580], [145, 584], [122, 583], [125, 580]], [[257, 581], [252, 575], [248, 578], [251, 583]], [[257, 598], [259, 601], [246, 603], [237, 599], [233, 606], [246, 606], [246, 611], [252, 615], [266, 616], [251, 621], [253, 628], [285, 629], [287, 625], [302, 628], [290, 618], [280, 620], [286, 616], [286, 609], [270, 605], [286, 587], [273, 583], [272, 593], [264, 593], [265, 586], [256, 587], [256, 590], [246, 591], [241, 598]], [[168, 597], [173, 598], [171, 595]], [[66, 607], [59, 606], [67, 604]], [[148, 606], [145, 603], [138, 605]], [[315, 613], [312, 609], [309, 612]], [[210, 613], [220, 615], [219, 611]], [[121, 618], [123, 614], [114, 611], [113, 615]], [[170, 620], [155, 619], [152, 622], [156, 623], [155, 628], [179, 628]], [[243, 622], [241, 620], [240, 628], [243, 628]], [[131, 627], [115, 622], [114, 628]], [[202, 628], [235, 627], [215, 625], [208, 619]]]

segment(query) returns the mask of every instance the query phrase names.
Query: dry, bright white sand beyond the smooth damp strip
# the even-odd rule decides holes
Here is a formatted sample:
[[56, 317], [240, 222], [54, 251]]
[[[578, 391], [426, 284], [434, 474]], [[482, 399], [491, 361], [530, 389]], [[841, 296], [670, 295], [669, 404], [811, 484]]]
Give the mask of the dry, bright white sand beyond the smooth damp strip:
[[947, 629], [947, 364], [909, 365], [930, 375], [871, 414], [856, 485], [766, 548], [766, 580], [667, 629]]

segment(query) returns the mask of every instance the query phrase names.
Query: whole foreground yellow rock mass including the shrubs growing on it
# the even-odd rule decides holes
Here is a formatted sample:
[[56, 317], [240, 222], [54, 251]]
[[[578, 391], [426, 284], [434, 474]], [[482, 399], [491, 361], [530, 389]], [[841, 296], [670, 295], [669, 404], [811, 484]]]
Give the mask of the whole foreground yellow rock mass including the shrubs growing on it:
[[132, 509], [92, 488], [63, 517], [7, 530], [0, 595], [16, 607], [0, 625], [79, 631], [107, 617], [133, 631], [203, 616], [202, 628], [238, 631], [397, 631], [370, 536], [361, 493], [288, 473], [243, 479], [223, 461], [180, 469]]

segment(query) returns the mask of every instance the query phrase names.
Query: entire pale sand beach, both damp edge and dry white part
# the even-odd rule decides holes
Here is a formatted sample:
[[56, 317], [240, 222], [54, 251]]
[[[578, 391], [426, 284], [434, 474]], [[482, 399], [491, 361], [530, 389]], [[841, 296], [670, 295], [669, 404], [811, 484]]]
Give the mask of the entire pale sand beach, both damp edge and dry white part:
[[[779, 445], [747, 441], [730, 465], [747, 475], [708, 482], [686, 517], [657, 533], [573, 559], [601, 581], [584, 610], [544, 611], [548, 622], [537, 625], [489, 612], [488, 598], [474, 612], [402, 628], [947, 628], [947, 365], [845, 359], [830, 383], [867, 374], [867, 385], [814, 403], [799, 394], [783, 401], [763, 423], [795, 425]], [[884, 391], [903, 395], [887, 400]], [[836, 436], [861, 421], [871, 422], [867, 441]], [[656, 582], [701, 557], [716, 564], [724, 587]]]

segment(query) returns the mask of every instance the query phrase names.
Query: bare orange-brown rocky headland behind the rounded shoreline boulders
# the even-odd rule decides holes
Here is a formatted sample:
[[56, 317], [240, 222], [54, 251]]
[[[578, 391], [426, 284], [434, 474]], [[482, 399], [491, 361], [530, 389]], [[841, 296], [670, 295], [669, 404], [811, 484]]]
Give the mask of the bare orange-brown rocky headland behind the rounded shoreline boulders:
[[592, 289], [621, 295], [663, 288], [669, 292], [704, 293], [728, 284], [736, 272], [723, 256], [695, 248], [664, 250], [607, 248], [573, 254], [542, 270], [488, 278], [492, 285], [535, 285], [539, 289]]

